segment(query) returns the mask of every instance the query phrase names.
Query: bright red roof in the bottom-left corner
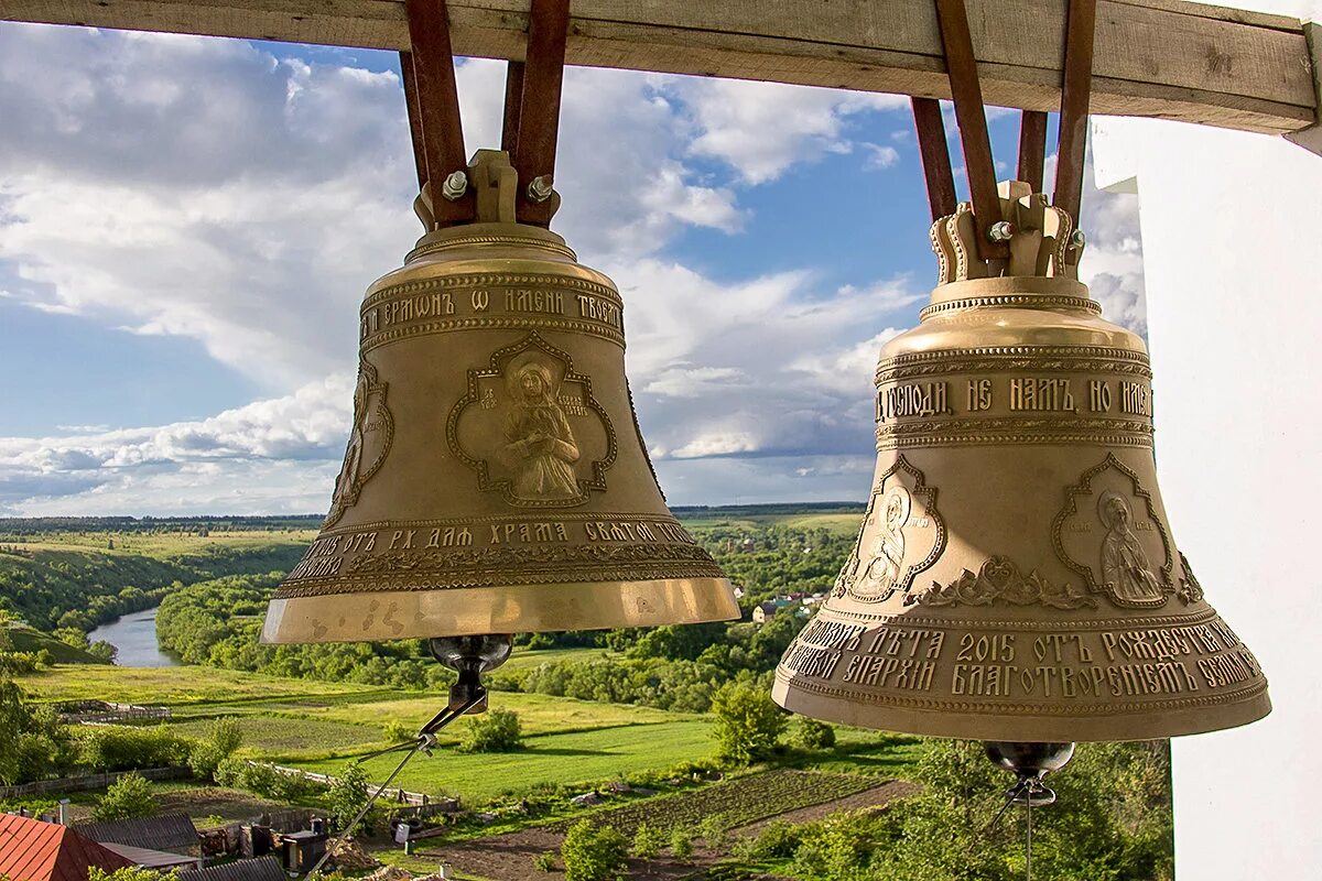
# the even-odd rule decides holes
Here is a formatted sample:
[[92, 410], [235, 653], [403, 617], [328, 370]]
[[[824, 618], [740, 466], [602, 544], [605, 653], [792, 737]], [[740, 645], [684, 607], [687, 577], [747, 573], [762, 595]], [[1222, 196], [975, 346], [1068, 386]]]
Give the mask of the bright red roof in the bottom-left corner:
[[12, 881], [87, 881], [91, 866], [134, 865], [58, 823], [0, 814], [0, 876]]

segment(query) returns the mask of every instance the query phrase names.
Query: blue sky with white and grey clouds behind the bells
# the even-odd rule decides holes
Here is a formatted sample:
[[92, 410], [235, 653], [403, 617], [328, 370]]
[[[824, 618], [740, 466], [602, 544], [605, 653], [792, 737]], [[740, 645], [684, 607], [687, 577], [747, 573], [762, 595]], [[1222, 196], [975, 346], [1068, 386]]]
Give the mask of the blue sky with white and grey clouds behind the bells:
[[[504, 63], [457, 74], [497, 145]], [[621, 289], [672, 505], [865, 498], [878, 350], [936, 272], [908, 107], [567, 71], [551, 226]], [[0, 22], [0, 515], [324, 512], [358, 302], [422, 234], [398, 57]], [[1137, 197], [1089, 172], [1083, 229], [1144, 333]]]

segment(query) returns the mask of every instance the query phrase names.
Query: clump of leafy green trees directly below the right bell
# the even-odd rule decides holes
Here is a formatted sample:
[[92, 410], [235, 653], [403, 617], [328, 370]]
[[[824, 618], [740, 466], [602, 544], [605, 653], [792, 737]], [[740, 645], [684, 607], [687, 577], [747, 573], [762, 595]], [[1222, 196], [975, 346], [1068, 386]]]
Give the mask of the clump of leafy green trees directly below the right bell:
[[[1171, 881], [1169, 753], [1165, 744], [1085, 744], [1051, 777], [1060, 799], [1034, 811], [1039, 881]], [[817, 881], [1018, 881], [1025, 873], [1023, 811], [997, 826], [1011, 778], [981, 744], [933, 744], [919, 762], [923, 791], [883, 814], [838, 814], [768, 828], [750, 848], [792, 856]], [[767, 840], [763, 841], [763, 837]]]

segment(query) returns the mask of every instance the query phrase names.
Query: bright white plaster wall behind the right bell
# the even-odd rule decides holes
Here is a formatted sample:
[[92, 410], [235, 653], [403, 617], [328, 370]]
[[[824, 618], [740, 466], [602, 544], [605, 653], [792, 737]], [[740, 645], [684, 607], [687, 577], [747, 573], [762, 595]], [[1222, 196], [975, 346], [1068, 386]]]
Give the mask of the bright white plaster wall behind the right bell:
[[1322, 157], [1128, 119], [1095, 122], [1093, 157], [1137, 182], [1175, 540], [1274, 704], [1174, 741], [1177, 874], [1322, 878]]

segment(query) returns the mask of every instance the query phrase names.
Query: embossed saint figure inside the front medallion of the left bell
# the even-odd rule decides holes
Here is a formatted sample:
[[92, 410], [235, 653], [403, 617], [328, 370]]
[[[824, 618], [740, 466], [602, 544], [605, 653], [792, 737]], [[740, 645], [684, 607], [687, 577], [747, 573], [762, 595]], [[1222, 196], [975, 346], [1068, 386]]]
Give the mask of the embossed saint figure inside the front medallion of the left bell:
[[525, 363], [506, 379], [510, 399], [505, 416], [501, 458], [514, 472], [513, 493], [525, 499], [575, 498], [579, 494], [572, 464], [578, 442], [564, 409], [555, 400], [551, 371]]

